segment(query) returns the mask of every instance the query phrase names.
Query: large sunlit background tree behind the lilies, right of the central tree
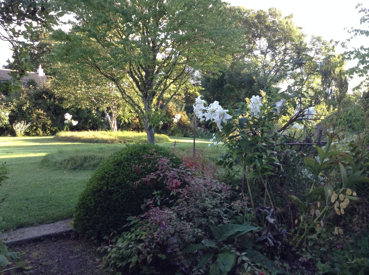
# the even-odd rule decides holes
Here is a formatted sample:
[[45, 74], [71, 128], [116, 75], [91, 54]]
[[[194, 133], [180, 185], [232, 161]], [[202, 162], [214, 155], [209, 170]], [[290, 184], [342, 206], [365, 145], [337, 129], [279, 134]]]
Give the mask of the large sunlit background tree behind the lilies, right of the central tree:
[[304, 34], [294, 25], [292, 15], [283, 17], [276, 8], [255, 11], [229, 7], [228, 14], [242, 31], [242, 44], [220, 77], [201, 77], [204, 96], [220, 101], [227, 95], [235, 103], [259, 90], [269, 94], [281, 81], [290, 78], [290, 61], [304, 44]]

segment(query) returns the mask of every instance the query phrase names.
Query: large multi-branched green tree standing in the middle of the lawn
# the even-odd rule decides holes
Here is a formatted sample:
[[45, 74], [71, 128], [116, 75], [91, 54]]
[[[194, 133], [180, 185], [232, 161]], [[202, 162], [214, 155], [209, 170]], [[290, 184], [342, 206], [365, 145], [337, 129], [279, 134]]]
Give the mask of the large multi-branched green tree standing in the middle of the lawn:
[[220, 0], [68, 0], [75, 15], [54, 56], [114, 83], [154, 143], [155, 114], [195, 71], [218, 71], [238, 35]]

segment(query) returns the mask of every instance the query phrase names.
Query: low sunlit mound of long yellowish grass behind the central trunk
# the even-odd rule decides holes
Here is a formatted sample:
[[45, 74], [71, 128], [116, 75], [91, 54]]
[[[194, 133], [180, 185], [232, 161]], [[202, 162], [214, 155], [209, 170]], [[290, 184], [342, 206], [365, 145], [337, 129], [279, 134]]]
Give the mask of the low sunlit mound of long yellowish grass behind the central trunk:
[[[56, 140], [86, 143], [145, 143], [147, 142], [146, 133], [130, 131], [82, 131], [69, 132], [62, 131], [55, 135]], [[155, 142], [169, 142], [167, 135], [155, 134]]]

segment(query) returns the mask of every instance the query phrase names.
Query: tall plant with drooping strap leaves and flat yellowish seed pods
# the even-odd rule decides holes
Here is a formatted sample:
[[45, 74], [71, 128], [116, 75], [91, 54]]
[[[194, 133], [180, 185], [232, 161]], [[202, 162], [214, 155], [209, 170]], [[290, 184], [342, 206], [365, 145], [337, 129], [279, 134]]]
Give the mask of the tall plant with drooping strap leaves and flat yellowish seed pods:
[[[361, 167], [356, 167], [348, 154], [334, 149], [331, 138], [324, 149], [318, 146], [316, 148], [317, 158], [304, 158], [311, 173], [306, 175], [311, 185], [304, 198], [305, 202], [295, 196], [289, 196], [292, 201], [297, 202], [302, 211], [296, 233], [297, 246], [306, 242], [306, 237], [313, 228], [318, 233], [322, 231], [323, 225], [327, 224], [324, 221], [327, 211], [338, 216], [344, 215], [347, 205], [351, 201], [358, 201], [356, 194], [352, 195], [352, 189], [356, 190], [359, 183], [369, 182], [368, 177], [361, 175]], [[349, 173], [346, 172], [348, 165], [345, 165], [345, 162], [351, 168]]]

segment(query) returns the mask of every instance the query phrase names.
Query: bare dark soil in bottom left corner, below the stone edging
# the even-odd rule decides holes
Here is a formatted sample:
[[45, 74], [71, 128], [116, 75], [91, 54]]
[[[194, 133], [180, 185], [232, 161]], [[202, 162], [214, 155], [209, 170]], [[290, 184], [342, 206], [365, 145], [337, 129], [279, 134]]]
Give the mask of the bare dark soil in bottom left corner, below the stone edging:
[[[29, 274], [34, 275], [103, 275], [100, 269], [102, 254], [97, 247], [72, 233], [45, 238], [32, 243], [8, 245], [27, 261]], [[11, 267], [11, 266], [8, 266]], [[24, 274], [24, 269], [12, 269], [4, 275]]]

